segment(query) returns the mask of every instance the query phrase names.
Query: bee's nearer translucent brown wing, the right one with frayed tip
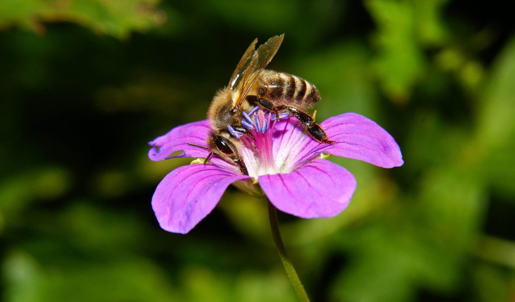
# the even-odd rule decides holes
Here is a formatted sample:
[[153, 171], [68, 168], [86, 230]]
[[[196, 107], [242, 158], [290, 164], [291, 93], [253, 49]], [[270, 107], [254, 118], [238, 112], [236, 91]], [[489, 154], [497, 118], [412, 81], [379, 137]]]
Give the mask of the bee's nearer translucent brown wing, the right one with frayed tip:
[[236, 102], [233, 104], [233, 108], [239, 107], [242, 103], [243, 98], [249, 92], [252, 84], [265, 69], [266, 65], [270, 63], [273, 56], [276, 55], [279, 46], [281, 46], [281, 43], [283, 42], [283, 38], [284, 33], [281, 36], [275, 36], [268, 39], [268, 41], [266, 41], [265, 44], [261, 44], [251, 56], [248, 67], [243, 71], [242, 80], [238, 82], [237, 90], [239, 94]]

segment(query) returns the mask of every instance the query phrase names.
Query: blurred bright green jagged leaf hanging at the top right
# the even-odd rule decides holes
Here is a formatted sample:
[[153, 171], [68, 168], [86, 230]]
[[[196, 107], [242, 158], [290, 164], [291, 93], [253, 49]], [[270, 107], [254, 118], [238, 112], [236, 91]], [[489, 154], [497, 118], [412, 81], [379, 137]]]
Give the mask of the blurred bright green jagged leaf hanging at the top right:
[[404, 103], [427, 69], [423, 46], [440, 46], [446, 38], [441, 6], [447, 1], [370, 0], [367, 7], [380, 30], [374, 37], [374, 68], [394, 101]]

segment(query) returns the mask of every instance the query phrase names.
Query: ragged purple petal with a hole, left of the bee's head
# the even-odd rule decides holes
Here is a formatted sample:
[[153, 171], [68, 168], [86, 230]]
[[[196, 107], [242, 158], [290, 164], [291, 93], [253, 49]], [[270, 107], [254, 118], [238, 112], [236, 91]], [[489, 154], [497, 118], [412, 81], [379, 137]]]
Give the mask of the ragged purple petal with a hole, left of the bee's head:
[[[209, 121], [198, 121], [171, 129], [168, 133], [149, 142], [153, 146], [148, 152], [151, 160], [176, 157], [206, 157], [209, 149], [188, 145], [187, 143], [207, 146], [205, 143], [210, 131]], [[175, 152], [182, 153], [171, 156]]]

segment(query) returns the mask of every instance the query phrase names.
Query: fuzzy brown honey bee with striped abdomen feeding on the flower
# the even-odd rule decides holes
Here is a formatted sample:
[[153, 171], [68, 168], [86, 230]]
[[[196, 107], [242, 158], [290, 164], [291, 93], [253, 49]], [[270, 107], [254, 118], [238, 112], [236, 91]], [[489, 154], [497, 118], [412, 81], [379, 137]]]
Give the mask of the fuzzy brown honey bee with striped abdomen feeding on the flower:
[[[305, 113], [319, 100], [320, 94], [310, 82], [287, 73], [265, 70], [276, 55], [283, 41], [284, 34], [275, 36], [255, 49], [258, 39], [254, 39], [239, 60], [229, 85], [219, 90], [209, 107], [208, 119], [211, 133], [208, 146], [212, 154], [222, 159], [232, 160], [243, 174], [248, 174], [243, 159], [238, 155], [241, 142], [236, 138], [239, 134], [252, 137], [247, 128], [242, 126], [243, 112], [255, 106], [267, 109], [276, 114], [288, 112], [294, 115], [317, 141], [333, 144], [312, 116]], [[234, 133], [238, 133], [234, 136]]]

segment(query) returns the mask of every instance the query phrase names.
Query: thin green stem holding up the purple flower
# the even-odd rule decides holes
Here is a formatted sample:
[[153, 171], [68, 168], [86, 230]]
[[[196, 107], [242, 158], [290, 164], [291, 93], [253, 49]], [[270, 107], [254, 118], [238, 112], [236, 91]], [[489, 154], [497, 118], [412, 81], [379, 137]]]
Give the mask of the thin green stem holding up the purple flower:
[[277, 223], [277, 212], [276, 207], [274, 207], [269, 200], [268, 203], [268, 219], [270, 220], [270, 229], [272, 230], [273, 242], [276, 244], [277, 253], [281, 258], [281, 262], [283, 263], [284, 270], [290, 279], [290, 283], [295, 289], [297, 296], [300, 301], [310, 301], [310, 298], [307, 296], [306, 290], [300, 282], [299, 276], [295, 271], [295, 267], [291, 264], [291, 261], [288, 259], [286, 255], [286, 249], [284, 248], [283, 240], [281, 239], [281, 232], [279, 231], [279, 224]]

